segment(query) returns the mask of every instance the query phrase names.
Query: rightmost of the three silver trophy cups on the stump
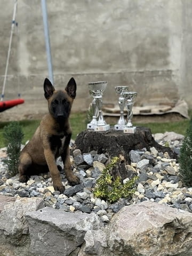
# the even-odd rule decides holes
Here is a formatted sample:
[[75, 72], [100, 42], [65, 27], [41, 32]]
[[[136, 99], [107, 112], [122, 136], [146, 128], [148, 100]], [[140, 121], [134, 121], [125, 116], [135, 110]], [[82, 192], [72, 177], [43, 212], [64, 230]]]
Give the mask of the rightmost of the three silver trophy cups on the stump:
[[127, 124], [123, 130], [124, 133], [135, 133], [136, 127], [132, 124], [133, 118], [133, 105], [134, 99], [137, 97], [137, 92], [123, 92], [123, 97], [125, 98], [125, 106], [127, 107]]

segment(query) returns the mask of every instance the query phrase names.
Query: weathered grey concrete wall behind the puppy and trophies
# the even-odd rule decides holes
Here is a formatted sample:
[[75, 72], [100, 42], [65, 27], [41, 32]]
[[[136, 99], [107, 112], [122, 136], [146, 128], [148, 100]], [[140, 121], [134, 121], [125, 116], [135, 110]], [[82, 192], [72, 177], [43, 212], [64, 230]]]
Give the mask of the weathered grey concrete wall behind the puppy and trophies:
[[[0, 3], [1, 90], [14, 1]], [[114, 87], [129, 85], [138, 92], [138, 105], [183, 98], [192, 108], [190, 0], [47, 0], [47, 11], [55, 87], [65, 87], [74, 76], [74, 110], [89, 106], [87, 83], [103, 80], [104, 102], [117, 102]], [[26, 99], [19, 111], [44, 111], [48, 74], [41, 1], [19, 0], [17, 21], [5, 96], [15, 98], [19, 87]]]

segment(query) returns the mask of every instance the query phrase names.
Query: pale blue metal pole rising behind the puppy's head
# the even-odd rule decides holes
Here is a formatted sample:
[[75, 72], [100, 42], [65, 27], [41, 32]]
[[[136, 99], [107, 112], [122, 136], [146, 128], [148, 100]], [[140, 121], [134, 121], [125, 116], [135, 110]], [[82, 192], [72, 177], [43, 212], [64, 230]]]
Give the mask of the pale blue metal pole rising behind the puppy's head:
[[49, 79], [51, 83], [54, 83], [53, 80], [53, 69], [52, 69], [52, 58], [51, 58], [51, 46], [50, 46], [50, 37], [49, 37], [49, 26], [47, 21], [47, 8], [46, 8], [46, 0], [42, 0], [42, 14], [43, 14], [43, 26], [44, 26], [44, 34], [45, 34], [45, 47], [47, 54], [47, 65], [49, 72]]

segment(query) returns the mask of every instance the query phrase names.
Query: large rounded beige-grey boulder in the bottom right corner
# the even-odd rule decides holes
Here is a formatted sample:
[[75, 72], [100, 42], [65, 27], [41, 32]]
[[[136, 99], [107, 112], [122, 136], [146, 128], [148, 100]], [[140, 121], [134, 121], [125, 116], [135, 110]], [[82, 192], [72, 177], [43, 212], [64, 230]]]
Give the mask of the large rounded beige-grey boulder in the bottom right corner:
[[150, 201], [125, 206], [106, 237], [106, 256], [191, 256], [192, 214]]

